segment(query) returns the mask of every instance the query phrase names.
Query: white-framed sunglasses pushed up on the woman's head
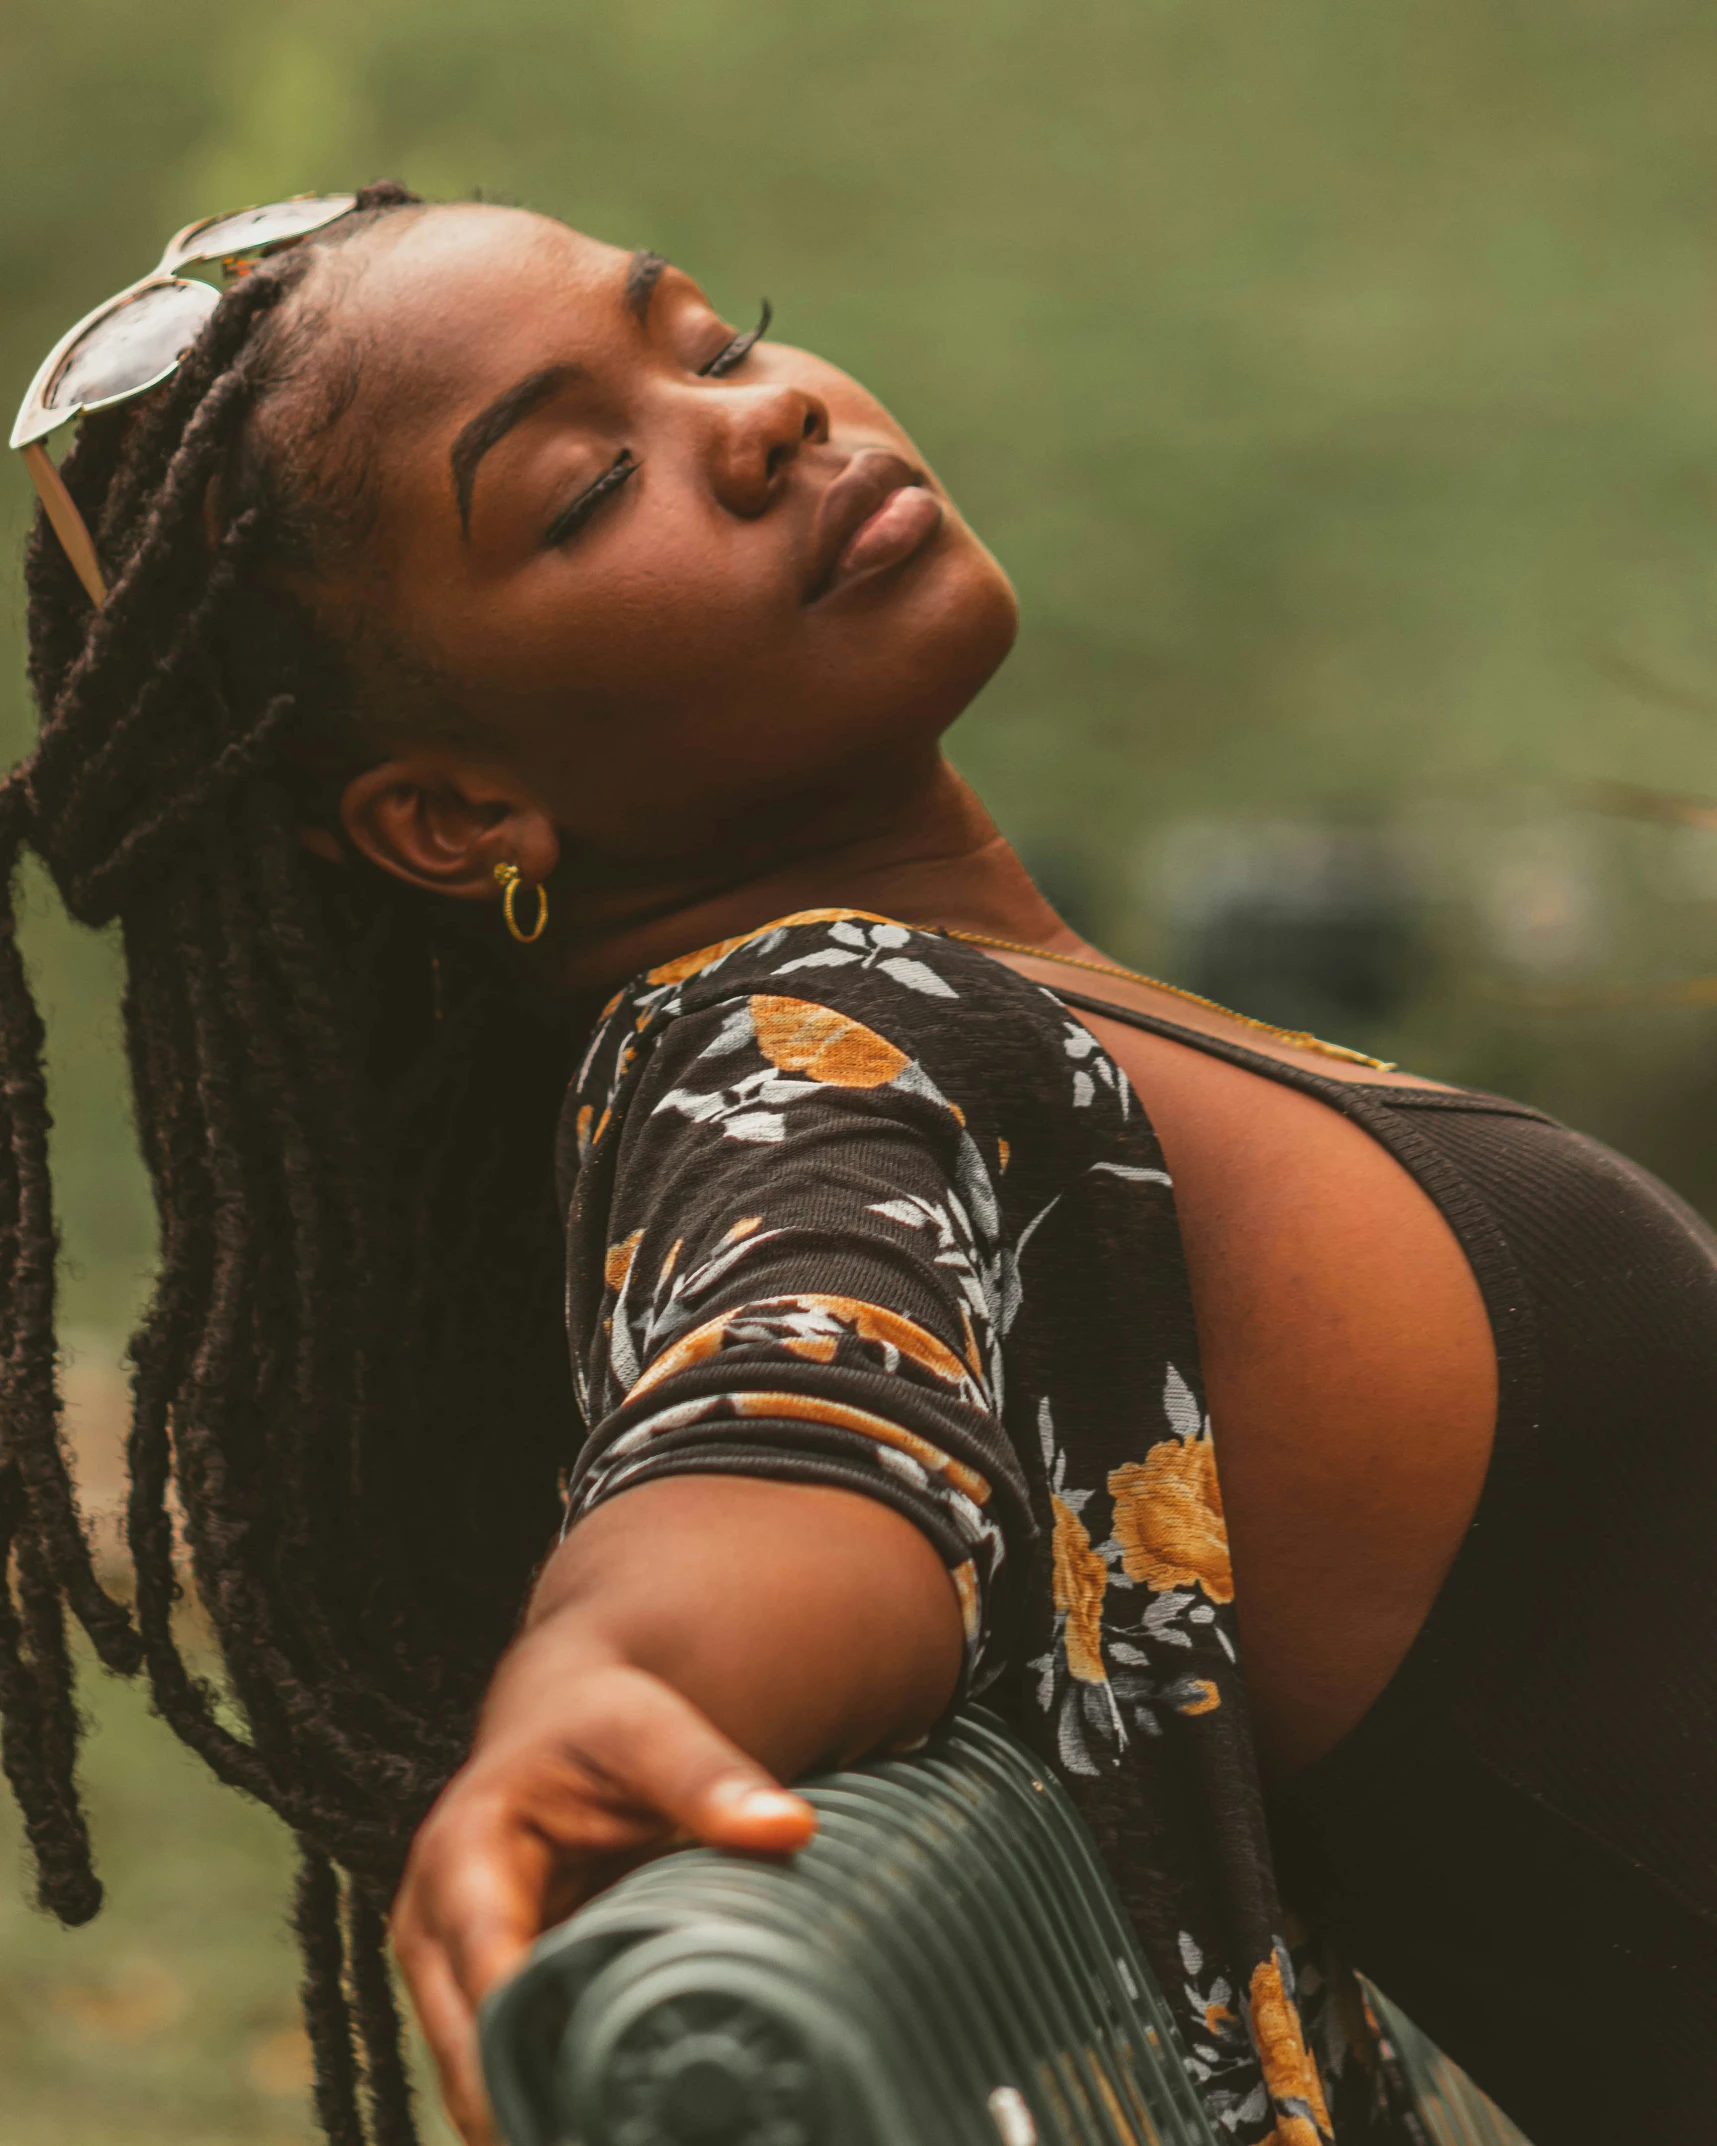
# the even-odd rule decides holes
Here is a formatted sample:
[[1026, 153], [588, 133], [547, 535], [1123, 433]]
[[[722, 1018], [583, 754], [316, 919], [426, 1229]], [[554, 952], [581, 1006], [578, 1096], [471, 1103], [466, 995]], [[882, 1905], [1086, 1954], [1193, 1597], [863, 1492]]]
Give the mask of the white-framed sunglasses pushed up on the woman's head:
[[11, 444], [24, 455], [47, 519], [92, 603], [105, 603], [107, 584], [88, 526], [43, 442], [60, 425], [90, 410], [112, 410], [178, 371], [185, 352], [221, 303], [212, 283], [200, 283], [180, 270], [221, 262], [240, 273], [249, 260], [309, 238], [350, 217], [356, 206], [356, 193], [300, 193], [292, 202], [187, 223], [140, 283], [129, 283], [116, 298], [86, 313], [36, 367]]

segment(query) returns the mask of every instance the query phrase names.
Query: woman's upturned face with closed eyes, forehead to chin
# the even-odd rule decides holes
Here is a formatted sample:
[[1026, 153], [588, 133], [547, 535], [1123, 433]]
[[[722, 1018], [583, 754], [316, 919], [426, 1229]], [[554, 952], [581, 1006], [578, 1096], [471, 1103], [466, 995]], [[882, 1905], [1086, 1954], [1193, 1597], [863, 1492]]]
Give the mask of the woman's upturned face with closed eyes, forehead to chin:
[[328, 279], [380, 513], [324, 601], [453, 680], [573, 839], [755, 831], [923, 753], [1007, 652], [1007, 577], [889, 412], [683, 270], [472, 206]]

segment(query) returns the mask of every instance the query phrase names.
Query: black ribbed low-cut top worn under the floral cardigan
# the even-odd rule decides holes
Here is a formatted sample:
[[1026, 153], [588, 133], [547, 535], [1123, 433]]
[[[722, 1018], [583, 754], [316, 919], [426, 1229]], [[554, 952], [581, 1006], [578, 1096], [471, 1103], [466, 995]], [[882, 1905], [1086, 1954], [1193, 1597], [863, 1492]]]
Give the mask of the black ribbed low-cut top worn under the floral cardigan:
[[1520, 1103], [1056, 996], [1352, 1118], [1436, 1202], [1496, 1337], [1492, 1466], [1432, 1614], [1275, 1796], [1288, 1897], [1532, 2146], [1711, 2146], [1717, 1236]]

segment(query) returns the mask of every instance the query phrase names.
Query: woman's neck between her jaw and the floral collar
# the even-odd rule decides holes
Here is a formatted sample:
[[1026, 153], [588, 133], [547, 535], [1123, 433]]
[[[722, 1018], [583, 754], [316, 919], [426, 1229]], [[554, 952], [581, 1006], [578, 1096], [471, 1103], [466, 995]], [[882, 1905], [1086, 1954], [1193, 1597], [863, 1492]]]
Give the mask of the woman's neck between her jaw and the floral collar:
[[[790, 854], [719, 871], [599, 880], [554, 888], [554, 936], [567, 949], [556, 996], [607, 996], [627, 976], [796, 910], [874, 910], [1050, 951], [1077, 951], [968, 783], [940, 755], [874, 805], [779, 813], [803, 833]], [[560, 876], [556, 876], [560, 880]], [[549, 976], [539, 972], [541, 981]]]

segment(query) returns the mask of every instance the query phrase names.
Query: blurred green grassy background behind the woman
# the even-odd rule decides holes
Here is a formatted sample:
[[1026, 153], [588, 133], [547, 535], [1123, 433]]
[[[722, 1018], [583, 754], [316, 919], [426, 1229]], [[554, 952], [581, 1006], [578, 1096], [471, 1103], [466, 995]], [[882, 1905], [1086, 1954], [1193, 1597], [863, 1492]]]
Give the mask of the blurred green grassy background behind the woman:
[[[178, 223], [373, 176], [768, 292], [1019, 584], [955, 751], [1086, 931], [1717, 1210], [1717, 1009], [1650, 989], [1717, 970], [1717, 835], [1605, 788], [1717, 796], [1708, 4], [9, 0], [0, 64], [13, 393]], [[9, 558], [26, 511], [9, 466]], [[105, 1494], [112, 949], [28, 938]], [[92, 1706], [116, 1901], [0, 1891], [4, 2146], [307, 2137], [277, 1831]]]

